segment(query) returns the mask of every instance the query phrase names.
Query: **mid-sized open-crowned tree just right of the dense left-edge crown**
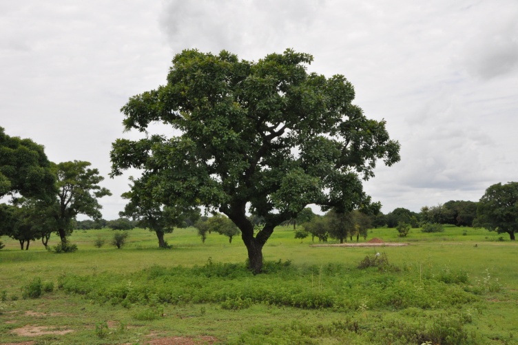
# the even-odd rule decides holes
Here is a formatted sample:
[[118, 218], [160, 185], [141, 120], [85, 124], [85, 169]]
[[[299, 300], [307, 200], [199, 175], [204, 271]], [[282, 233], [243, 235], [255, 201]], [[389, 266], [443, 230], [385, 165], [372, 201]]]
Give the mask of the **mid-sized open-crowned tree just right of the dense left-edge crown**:
[[52, 216], [57, 222], [62, 243], [72, 233], [72, 221], [78, 214], [100, 219], [102, 206], [97, 198], [112, 195], [108, 189], [99, 186], [104, 178], [99, 176], [99, 170], [88, 168], [90, 165], [80, 160], [54, 165], [59, 191], [52, 207]]

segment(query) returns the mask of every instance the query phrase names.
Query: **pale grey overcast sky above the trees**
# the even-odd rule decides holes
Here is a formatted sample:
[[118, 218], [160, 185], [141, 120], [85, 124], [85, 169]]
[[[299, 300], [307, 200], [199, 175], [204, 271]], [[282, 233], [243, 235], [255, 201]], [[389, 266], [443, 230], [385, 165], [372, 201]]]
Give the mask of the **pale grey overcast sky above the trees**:
[[90, 161], [118, 218], [127, 176], [107, 177], [111, 143], [139, 137], [119, 109], [185, 48], [252, 61], [293, 48], [311, 72], [346, 76], [402, 145], [366, 183], [384, 213], [518, 180], [516, 0], [1, 1], [0, 126], [56, 163]]

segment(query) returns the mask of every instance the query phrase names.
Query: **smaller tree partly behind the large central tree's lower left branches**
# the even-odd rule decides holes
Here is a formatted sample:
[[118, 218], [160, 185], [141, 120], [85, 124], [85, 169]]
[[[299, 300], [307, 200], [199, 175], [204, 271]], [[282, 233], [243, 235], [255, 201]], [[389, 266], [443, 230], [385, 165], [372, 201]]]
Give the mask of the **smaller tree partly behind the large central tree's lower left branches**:
[[[184, 210], [167, 207], [157, 202], [149, 191], [148, 181], [131, 178], [133, 184], [130, 185], [131, 190], [125, 192], [122, 197], [129, 200], [124, 211], [119, 212], [119, 216], [131, 217], [138, 221], [138, 226], [149, 231], [154, 231], [158, 238], [158, 247], [167, 248], [167, 242], [164, 240], [165, 233], [172, 233], [174, 227], [180, 227], [185, 219], [196, 221], [200, 217], [198, 209], [187, 213]], [[192, 219], [192, 220], [191, 220]]]

